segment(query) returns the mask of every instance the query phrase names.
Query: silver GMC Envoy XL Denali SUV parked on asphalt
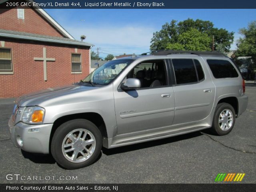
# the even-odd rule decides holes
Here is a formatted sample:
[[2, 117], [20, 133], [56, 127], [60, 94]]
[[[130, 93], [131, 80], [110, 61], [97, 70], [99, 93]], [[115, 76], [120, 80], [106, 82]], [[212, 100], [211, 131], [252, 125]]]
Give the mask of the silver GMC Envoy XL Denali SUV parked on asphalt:
[[246, 110], [245, 84], [218, 52], [158, 51], [107, 62], [79, 83], [17, 99], [12, 142], [67, 169], [115, 148], [210, 128], [226, 135]]

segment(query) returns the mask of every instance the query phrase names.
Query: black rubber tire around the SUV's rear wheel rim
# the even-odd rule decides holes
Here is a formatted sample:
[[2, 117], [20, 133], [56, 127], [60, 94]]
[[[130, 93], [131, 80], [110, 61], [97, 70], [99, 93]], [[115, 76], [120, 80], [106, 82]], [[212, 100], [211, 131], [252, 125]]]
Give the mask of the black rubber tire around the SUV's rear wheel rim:
[[[222, 130], [220, 128], [221, 123], [219, 123], [219, 119], [220, 119], [220, 114], [226, 109], [230, 110], [232, 112], [232, 115], [233, 115], [232, 120], [233, 121], [232, 121], [232, 125], [227, 130]], [[235, 110], [232, 107], [232, 105], [230, 105], [228, 103], [220, 103], [216, 107], [213, 122], [212, 122], [212, 127], [210, 128], [210, 130], [213, 134], [216, 134], [219, 136], [226, 135], [233, 129], [235, 121], [236, 121], [236, 113], [235, 113]]]

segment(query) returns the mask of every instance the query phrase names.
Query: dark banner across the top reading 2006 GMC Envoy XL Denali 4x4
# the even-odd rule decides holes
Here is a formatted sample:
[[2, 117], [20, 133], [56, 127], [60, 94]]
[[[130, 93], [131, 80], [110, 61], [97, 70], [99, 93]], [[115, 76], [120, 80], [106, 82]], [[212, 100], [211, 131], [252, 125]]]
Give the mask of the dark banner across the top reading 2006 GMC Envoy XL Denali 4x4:
[[255, 9], [254, 0], [0, 0], [0, 8], [43, 9]]

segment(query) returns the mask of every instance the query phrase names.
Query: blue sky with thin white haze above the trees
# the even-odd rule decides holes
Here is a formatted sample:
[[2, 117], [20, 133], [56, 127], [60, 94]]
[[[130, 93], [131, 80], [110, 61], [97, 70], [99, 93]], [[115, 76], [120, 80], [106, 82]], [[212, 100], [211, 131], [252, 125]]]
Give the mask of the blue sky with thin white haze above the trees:
[[239, 28], [256, 20], [256, 9], [47, 9], [75, 39], [86, 42], [107, 54], [141, 54], [149, 51], [153, 32], [171, 20], [210, 20], [214, 27], [235, 32], [232, 49], [240, 36]]

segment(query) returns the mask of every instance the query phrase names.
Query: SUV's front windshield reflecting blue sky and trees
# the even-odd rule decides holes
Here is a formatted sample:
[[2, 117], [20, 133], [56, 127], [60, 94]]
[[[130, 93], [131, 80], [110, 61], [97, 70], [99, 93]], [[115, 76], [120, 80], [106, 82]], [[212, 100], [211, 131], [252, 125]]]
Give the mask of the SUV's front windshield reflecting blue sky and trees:
[[126, 66], [128, 66], [133, 60], [113, 60], [106, 62], [92, 73], [90, 73], [82, 82], [89, 82], [91, 84], [107, 85], [112, 82]]

